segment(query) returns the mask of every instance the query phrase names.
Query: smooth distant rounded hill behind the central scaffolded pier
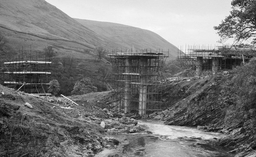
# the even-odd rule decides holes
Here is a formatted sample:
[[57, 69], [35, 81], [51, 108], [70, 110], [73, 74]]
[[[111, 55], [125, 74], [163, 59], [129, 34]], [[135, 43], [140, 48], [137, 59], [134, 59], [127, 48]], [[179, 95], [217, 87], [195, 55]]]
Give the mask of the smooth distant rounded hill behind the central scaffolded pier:
[[111, 47], [130, 48], [134, 46], [138, 49], [151, 48], [156, 50], [160, 48], [163, 49], [163, 51], [168, 51], [169, 49], [170, 58], [177, 56], [177, 47], [152, 31], [111, 22], [83, 19], [75, 20], [83, 26], [97, 32], [101, 37], [111, 39], [114, 42], [114, 45], [111, 45]]

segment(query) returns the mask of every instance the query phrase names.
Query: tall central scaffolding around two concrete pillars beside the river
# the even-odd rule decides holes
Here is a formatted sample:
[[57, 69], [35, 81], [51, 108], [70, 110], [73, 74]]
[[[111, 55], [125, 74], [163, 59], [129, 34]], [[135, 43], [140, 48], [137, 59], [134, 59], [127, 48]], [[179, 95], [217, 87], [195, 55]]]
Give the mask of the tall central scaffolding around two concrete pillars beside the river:
[[158, 89], [164, 80], [163, 63], [167, 55], [159, 51], [112, 51], [112, 71], [107, 82], [116, 92], [116, 110], [140, 115], [161, 110]]

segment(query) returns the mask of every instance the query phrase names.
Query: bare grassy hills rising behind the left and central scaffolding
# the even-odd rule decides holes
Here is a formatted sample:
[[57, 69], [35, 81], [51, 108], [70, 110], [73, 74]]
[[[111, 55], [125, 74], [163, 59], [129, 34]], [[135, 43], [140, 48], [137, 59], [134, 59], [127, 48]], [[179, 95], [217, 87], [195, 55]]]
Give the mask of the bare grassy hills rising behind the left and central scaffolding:
[[[52, 46], [59, 59], [54, 65], [53, 78], [57, 79], [62, 93], [70, 94], [73, 85], [83, 77], [91, 78], [99, 90], [103, 75], [100, 67], [110, 68], [103, 59], [95, 62], [97, 46], [105, 48], [170, 49], [169, 59], [175, 58], [177, 47], [154, 32], [136, 27], [108, 22], [73, 19], [44, 0], [0, 1], [0, 34], [7, 40], [8, 49], [0, 52], [3, 58], [15, 57], [15, 53], [32, 48], [41, 51]], [[60, 60], [72, 56], [74, 61], [67, 70]], [[168, 59], [168, 60], [169, 60]], [[1, 69], [0, 69], [1, 71]], [[0, 83], [1, 79], [0, 79]]]

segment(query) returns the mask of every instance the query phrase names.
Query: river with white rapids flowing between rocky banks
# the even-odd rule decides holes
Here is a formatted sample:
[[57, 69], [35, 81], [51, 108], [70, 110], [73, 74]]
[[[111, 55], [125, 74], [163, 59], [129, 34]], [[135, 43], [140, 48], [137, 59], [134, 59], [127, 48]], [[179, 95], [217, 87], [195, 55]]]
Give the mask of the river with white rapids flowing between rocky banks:
[[202, 132], [194, 127], [169, 126], [159, 121], [138, 121], [138, 125], [147, 128], [153, 134], [134, 133], [113, 135], [121, 144], [113, 148], [105, 148], [96, 154], [108, 156], [118, 153], [123, 157], [189, 157], [189, 156], [232, 156], [227, 152], [232, 150], [207, 144], [213, 138], [220, 138], [223, 134]]

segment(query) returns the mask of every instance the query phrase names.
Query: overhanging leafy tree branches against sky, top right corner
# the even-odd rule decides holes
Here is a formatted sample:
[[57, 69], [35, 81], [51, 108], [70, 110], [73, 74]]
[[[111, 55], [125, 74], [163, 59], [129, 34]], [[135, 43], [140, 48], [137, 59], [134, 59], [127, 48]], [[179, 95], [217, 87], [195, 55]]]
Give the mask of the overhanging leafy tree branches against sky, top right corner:
[[215, 26], [220, 42], [234, 38], [236, 43], [244, 40], [256, 43], [256, 0], [233, 0], [230, 15]]

